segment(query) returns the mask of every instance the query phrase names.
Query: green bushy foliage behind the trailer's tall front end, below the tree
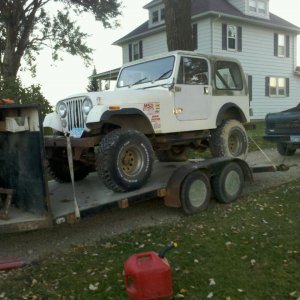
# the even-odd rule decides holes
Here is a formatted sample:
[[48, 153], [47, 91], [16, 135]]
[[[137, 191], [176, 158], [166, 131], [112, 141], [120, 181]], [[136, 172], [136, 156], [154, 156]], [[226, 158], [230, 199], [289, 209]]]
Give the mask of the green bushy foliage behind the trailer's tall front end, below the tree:
[[39, 104], [42, 117], [53, 111], [53, 107], [43, 96], [39, 85], [23, 87], [21, 81], [0, 80], [0, 98], [10, 98], [17, 104]]

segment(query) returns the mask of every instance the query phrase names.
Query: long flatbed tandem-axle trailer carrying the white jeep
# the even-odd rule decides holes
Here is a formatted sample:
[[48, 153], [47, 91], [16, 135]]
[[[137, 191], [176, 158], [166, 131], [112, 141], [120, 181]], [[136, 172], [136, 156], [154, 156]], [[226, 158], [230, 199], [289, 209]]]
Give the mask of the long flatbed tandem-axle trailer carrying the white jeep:
[[[14, 124], [14, 128], [7, 128], [9, 122], [20, 117], [25, 117], [28, 126], [20, 129]], [[57, 183], [48, 181], [46, 175], [39, 107], [0, 106], [0, 126], [3, 120], [6, 127], [3, 123], [2, 130], [0, 127], [0, 194], [7, 189], [13, 192], [10, 201], [7, 193], [1, 194], [0, 233], [74, 223], [84, 212], [112, 203], [126, 208], [129, 202], [142, 198], [159, 197], [168, 207], [182, 207], [188, 214], [197, 213], [206, 209], [212, 194], [220, 202], [232, 202], [241, 195], [244, 182], [252, 181], [254, 172], [278, 170], [271, 165], [251, 168], [244, 160], [234, 158], [183, 163], [156, 161], [147, 184], [131, 192], [116, 193], [107, 189], [96, 172], [73, 184]]]

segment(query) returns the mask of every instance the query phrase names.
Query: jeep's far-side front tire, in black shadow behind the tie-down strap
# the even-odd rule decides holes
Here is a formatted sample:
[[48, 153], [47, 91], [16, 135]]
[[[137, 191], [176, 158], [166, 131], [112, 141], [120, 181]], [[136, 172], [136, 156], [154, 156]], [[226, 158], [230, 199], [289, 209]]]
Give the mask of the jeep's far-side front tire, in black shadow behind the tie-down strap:
[[[91, 168], [80, 161], [73, 161], [74, 180], [84, 179]], [[71, 182], [70, 169], [67, 158], [48, 159], [48, 174], [57, 182]]]

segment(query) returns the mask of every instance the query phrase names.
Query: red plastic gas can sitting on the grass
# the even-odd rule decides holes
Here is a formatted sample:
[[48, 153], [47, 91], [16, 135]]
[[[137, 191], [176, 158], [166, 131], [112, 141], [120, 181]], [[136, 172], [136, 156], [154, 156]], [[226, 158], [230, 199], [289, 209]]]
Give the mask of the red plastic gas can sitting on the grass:
[[132, 255], [124, 265], [126, 291], [132, 300], [163, 299], [173, 295], [168, 260], [155, 252]]

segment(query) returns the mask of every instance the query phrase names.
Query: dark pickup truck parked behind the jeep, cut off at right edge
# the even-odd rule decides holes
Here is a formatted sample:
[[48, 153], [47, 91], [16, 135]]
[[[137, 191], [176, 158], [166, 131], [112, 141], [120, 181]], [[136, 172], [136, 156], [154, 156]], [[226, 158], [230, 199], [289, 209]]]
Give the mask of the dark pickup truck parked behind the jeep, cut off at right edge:
[[300, 103], [291, 109], [267, 114], [265, 134], [264, 139], [277, 143], [281, 155], [294, 155], [300, 148]]

